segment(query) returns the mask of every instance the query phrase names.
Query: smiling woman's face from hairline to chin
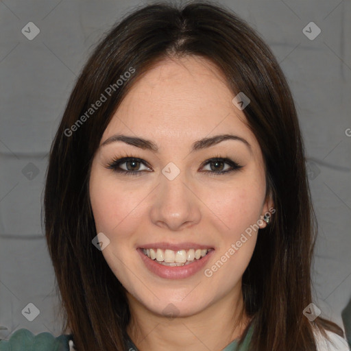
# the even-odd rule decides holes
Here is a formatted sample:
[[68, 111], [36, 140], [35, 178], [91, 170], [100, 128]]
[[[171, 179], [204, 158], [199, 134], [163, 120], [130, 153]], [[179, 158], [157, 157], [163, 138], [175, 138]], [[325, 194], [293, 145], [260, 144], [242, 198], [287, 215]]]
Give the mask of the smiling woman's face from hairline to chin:
[[[207, 60], [162, 61], [123, 99], [95, 154], [101, 252], [129, 298], [153, 313], [193, 315], [241, 291], [253, 225], [265, 226], [272, 204], [261, 149], [233, 98]], [[236, 137], [213, 139], [223, 134]], [[125, 157], [138, 160], [114, 162]]]

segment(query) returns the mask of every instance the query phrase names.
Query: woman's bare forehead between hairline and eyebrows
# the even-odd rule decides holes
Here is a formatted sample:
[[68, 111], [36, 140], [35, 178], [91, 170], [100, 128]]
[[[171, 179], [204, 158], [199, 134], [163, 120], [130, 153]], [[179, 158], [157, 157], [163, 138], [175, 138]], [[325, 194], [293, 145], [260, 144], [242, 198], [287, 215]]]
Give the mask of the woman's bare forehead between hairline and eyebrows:
[[158, 62], [138, 79], [121, 102], [102, 141], [116, 132], [191, 143], [232, 132], [255, 143], [234, 93], [212, 62], [195, 56]]

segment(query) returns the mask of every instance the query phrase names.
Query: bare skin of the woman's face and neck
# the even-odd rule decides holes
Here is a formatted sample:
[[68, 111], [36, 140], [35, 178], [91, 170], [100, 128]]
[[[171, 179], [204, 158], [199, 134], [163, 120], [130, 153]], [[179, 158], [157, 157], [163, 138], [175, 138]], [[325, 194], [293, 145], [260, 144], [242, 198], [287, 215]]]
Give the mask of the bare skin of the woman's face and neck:
[[[100, 143], [123, 133], [152, 140], [158, 152], [117, 141], [100, 146], [93, 159], [89, 186], [96, 230], [110, 239], [102, 254], [127, 291], [132, 315], [128, 334], [139, 350], [222, 350], [249, 322], [245, 313], [239, 320], [241, 278], [257, 231], [209, 278], [204, 269], [189, 278], [160, 278], [136, 252], [143, 244], [161, 241], [206, 244], [215, 247], [209, 268], [273, 206], [265, 194], [261, 149], [233, 97], [208, 60], [163, 60], [132, 86]], [[190, 153], [194, 141], [218, 134], [241, 136], [251, 149], [229, 140]], [[113, 158], [125, 153], [147, 162], [120, 165], [141, 170], [141, 175], [108, 169]], [[205, 173], [211, 167], [204, 162], [217, 156], [243, 168]], [[161, 172], [169, 162], [180, 169], [174, 180]], [[212, 170], [230, 169], [227, 164], [217, 167]], [[265, 226], [261, 221], [260, 227]], [[163, 312], [169, 304], [176, 307], [174, 318]]]

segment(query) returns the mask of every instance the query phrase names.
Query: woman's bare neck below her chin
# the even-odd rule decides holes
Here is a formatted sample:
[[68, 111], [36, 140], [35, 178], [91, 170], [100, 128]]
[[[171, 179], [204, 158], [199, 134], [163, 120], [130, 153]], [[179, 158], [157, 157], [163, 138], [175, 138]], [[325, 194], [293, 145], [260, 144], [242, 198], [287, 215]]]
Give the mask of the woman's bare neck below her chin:
[[243, 311], [241, 289], [195, 315], [172, 319], [149, 311], [129, 293], [127, 296], [131, 313], [127, 332], [138, 350], [222, 350], [239, 338], [250, 322]]

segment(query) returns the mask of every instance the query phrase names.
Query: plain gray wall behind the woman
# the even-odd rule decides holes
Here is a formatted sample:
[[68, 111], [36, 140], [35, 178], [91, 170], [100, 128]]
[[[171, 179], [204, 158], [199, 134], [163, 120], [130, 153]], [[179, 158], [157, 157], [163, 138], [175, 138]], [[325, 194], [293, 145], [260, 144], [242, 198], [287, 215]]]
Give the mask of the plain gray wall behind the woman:
[[[0, 1], [0, 326], [7, 328], [0, 339], [18, 328], [60, 334], [40, 225], [47, 153], [91, 45], [143, 3]], [[351, 298], [351, 3], [219, 3], [261, 33], [289, 80], [319, 221], [314, 302], [342, 326], [340, 313]], [[311, 21], [322, 30], [314, 40], [302, 32]], [[21, 32], [29, 22], [40, 29], [33, 40]], [[29, 302], [40, 310], [33, 322], [21, 313]]]

